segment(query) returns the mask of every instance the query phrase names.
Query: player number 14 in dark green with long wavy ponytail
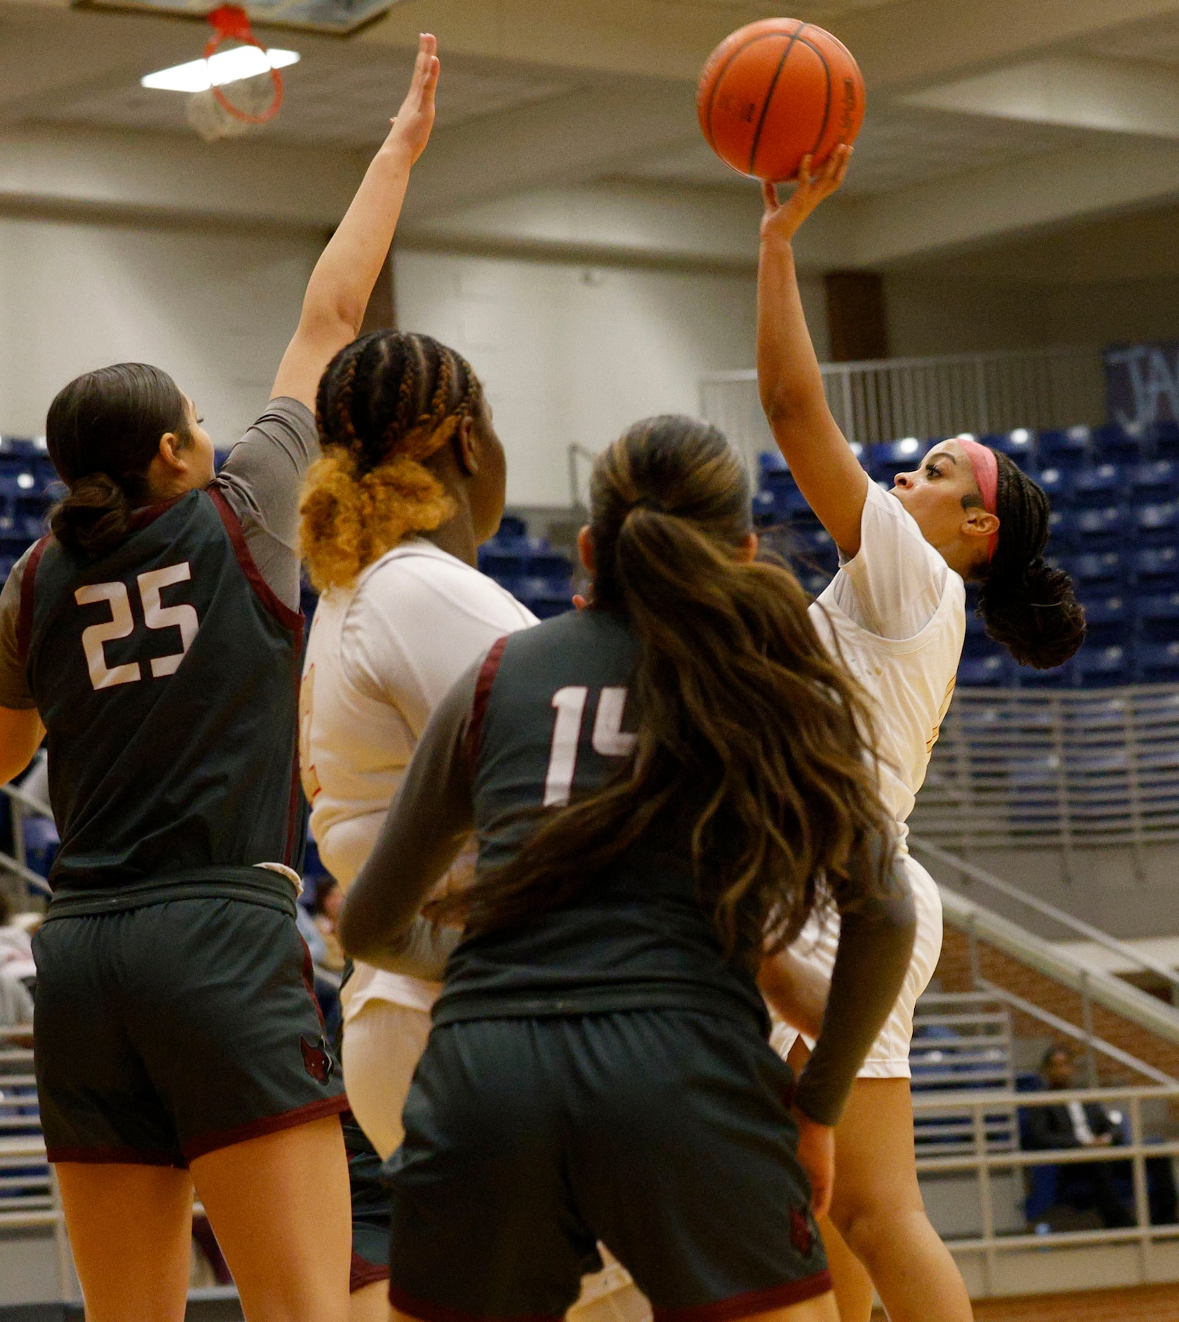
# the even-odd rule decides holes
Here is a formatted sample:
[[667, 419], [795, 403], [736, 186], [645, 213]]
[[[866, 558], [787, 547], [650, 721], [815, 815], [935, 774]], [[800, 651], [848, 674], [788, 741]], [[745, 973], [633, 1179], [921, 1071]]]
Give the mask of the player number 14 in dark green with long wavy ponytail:
[[[812, 1203], [913, 933], [870, 723], [797, 582], [753, 561], [715, 428], [632, 428], [592, 517], [593, 605], [501, 640], [436, 709], [344, 908], [358, 957], [445, 960], [387, 1163], [390, 1298], [555, 1318], [603, 1241], [657, 1318], [834, 1319]], [[472, 829], [473, 887], [431, 907], [464, 931], [434, 925]], [[756, 977], [823, 902], [839, 956], [794, 1084]]]

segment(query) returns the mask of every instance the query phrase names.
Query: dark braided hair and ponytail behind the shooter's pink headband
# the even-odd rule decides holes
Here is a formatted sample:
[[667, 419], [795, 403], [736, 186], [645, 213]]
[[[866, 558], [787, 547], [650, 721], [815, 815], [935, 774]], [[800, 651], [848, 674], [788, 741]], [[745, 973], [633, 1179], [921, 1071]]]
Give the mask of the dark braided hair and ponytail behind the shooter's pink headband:
[[1002, 453], [995, 513], [999, 541], [982, 579], [978, 613], [986, 632], [1020, 665], [1064, 665], [1085, 640], [1085, 611], [1064, 570], [1044, 563], [1048, 497]]

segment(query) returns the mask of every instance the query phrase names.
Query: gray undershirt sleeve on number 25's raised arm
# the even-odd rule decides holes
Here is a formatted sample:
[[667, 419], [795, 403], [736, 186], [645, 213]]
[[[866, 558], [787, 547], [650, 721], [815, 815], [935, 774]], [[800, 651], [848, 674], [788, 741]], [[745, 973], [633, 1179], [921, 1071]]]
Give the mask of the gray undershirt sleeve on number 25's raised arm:
[[271, 399], [213, 481], [242, 524], [258, 572], [292, 611], [299, 608], [299, 494], [319, 456], [307, 405]]

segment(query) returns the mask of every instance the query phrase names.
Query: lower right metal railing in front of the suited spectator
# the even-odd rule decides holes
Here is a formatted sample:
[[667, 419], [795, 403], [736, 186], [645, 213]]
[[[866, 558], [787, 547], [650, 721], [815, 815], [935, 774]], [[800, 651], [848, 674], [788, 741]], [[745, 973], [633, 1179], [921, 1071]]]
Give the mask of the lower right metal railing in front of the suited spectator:
[[[1018, 1112], [1028, 1107], [1055, 1107], [1069, 1101], [1116, 1101], [1129, 1113], [1129, 1142], [1120, 1146], [1067, 1147], [1060, 1150], [997, 1151], [987, 1142], [987, 1114], [997, 1105]], [[913, 1112], [921, 1117], [934, 1117], [946, 1112], [968, 1110], [971, 1117], [973, 1145], [969, 1153], [953, 1155], [917, 1155], [919, 1175], [973, 1174], [977, 1179], [979, 1233], [948, 1237], [946, 1245], [958, 1255], [978, 1255], [982, 1260], [985, 1294], [997, 1293], [997, 1263], [999, 1255], [1019, 1251], [1060, 1252], [1079, 1245], [1130, 1244], [1138, 1251], [1138, 1278], [1141, 1282], [1163, 1278], [1154, 1261], [1154, 1247], [1160, 1240], [1179, 1239], [1179, 1224], [1151, 1225], [1146, 1161], [1179, 1155], [1179, 1141], [1147, 1142], [1143, 1121], [1143, 1103], [1160, 1100], [1179, 1103], [1179, 1084], [1167, 1087], [1075, 1089], [1068, 1092], [1020, 1092], [997, 1095], [994, 1092], [957, 1093], [952, 1097], [913, 1096]], [[1071, 1166], [1086, 1162], [1129, 1161], [1134, 1202], [1134, 1225], [1125, 1229], [1035, 1231], [1002, 1232], [997, 1227], [994, 1175], [999, 1171], [1023, 1171], [1035, 1166]], [[1022, 1202], [1022, 1200], [1020, 1200]]]

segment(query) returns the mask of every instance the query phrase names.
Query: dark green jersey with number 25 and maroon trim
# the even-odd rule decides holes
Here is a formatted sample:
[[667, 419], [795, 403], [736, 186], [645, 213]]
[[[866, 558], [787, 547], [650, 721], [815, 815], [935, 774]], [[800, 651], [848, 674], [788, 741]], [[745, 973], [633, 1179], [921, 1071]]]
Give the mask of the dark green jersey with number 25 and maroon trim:
[[215, 488], [140, 512], [96, 561], [38, 543], [20, 649], [49, 732], [54, 888], [297, 867], [301, 642]]

